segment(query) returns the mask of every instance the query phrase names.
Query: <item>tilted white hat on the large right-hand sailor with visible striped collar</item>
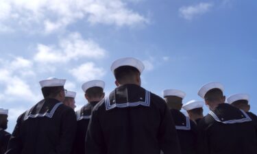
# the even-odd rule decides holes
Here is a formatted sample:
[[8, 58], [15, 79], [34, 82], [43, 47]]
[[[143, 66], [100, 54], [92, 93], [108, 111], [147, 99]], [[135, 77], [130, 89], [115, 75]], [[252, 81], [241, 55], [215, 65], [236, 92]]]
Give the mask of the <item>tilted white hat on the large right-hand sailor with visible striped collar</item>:
[[219, 82], [210, 82], [208, 84], [205, 84], [204, 86], [202, 86], [199, 91], [198, 91], [198, 95], [199, 97], [203, 98], [204, 99], [204, 96], [206, 95], [206, 93], [209, 91], [209, 90], [212, 90], [212, 89], [215, 89], [215, 88], [218, 88], [220, 89], [222, 92], [224, 90], [223, 88], [223, 85]]

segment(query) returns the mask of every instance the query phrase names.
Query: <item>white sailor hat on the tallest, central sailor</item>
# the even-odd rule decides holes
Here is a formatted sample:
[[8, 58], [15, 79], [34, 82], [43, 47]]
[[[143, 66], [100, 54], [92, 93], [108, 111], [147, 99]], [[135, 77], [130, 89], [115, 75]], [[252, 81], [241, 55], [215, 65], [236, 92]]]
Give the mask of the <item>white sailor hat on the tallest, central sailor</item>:
[[120, 66], [132, 66], [132, 67], [138, 69], [140, 73], [142, 73], [145, 68], [143, 62], [141, 62], [140, 60], [137, 60], [134, 57], [124, 57], [119, 60], [115, 60], [112, 63], [110, 70], [112, 70], [112, 73], [114, 73], [114, 70], [116, 68], [119, 68]]

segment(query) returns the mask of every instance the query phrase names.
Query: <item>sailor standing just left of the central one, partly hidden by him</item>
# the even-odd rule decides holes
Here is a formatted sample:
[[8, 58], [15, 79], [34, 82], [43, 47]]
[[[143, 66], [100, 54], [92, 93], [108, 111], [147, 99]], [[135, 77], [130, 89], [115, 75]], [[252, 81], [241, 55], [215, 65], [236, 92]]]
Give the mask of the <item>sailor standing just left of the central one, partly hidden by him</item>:
[[85, 154], [85, 139], [88, 123], [91, 117], [93, 107], [101, 101], [104, 97], [103, 89], [105, 87], [104, 81], [92, 80], [87, 81], [82, 85], [85, 99], [88, 101], [80, 110], [77, 110], [77, 133], [75, 144], [73, 146], [73, 153]]

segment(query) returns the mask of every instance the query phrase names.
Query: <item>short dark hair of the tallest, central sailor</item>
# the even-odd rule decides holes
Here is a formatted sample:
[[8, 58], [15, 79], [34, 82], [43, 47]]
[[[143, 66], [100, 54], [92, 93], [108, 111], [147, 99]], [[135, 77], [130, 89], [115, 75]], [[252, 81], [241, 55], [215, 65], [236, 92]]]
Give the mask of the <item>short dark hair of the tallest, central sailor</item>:
[[117, 81], [130, 80], [140, 74], [139, 70], [132, 66], [120, 66], [114, 70], [114, 77]]

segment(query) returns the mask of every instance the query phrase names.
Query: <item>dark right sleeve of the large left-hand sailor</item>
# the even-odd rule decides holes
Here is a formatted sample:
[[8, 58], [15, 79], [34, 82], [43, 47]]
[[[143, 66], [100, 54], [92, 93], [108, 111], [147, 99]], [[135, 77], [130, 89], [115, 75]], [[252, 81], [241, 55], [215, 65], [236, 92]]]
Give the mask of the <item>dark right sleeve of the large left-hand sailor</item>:
[[73, 110], [67, 110], [62, 115], [60, 143], [56, 146], [56, 151], [50, 154], [70, 154], [73, 147], [77, 129], [76, 115]]

